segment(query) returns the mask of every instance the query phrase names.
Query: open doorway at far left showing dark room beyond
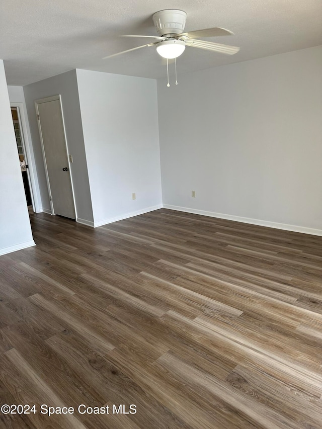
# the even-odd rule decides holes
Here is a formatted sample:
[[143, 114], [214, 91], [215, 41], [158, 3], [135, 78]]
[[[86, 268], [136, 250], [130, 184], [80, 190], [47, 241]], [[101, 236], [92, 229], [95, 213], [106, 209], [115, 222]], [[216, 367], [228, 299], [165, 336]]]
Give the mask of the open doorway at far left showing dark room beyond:
[[20, 169], [21, 169], [22, 179], [24, 183], [28, 212], [29, 214], [31, 214], [35, 212], [35, 204], [33, 200], [33, 193], [32, 193], [31, 181], [30, 181], [30, 174], [29, 174], [29, 164], [28, 164], [28, 159], [27, 159], [26, 149], [25, 149], [23, 127], [21, 122], [20, 110], [18, 106], [11, 107], [11, 115], [12, 115], [12, 120], [14, 124], [18, 156], [20, 160]]

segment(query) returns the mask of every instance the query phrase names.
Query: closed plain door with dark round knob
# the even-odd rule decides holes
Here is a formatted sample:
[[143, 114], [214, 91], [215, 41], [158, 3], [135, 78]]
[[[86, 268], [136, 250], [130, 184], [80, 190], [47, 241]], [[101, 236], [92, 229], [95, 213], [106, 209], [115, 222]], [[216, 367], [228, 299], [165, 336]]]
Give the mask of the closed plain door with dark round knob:
[[60, 96], [36, 100], [35, 103], [52, 212], [75, 219]]

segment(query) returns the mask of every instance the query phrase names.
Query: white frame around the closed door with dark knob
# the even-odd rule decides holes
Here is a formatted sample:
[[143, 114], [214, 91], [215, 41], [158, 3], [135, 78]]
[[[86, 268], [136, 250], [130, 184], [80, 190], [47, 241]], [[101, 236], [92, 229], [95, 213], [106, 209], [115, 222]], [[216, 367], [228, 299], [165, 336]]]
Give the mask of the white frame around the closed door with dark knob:
[[50, 209], [51, 209], [51, 214], [54, 215], [55, 214], [54, 204], [52, 202], [52, 196], [51, 196], [51, 190], [50, 190], [50, 182], [49, 182], [49, 175], [48, 175], [48, 169], [47, 169], [47, 161], [46, 161], [46, 154], [45, 154], [45, 148], [44, 148], [44, 141], [43, 141], [42, 131], [41, 131], [41, 124], [40, 124], [40, 118], [39, 118], [38, 104], [48, 103], [48, 102], [55, 101], [55, 100], [59, 100], [60, 117], [61, 117], [61, 120], [62, 120], [62, 127], [63, 127], [63, 130], [64, 130], [66, 158], [67, 158], [67, 162], [68, 162], [69, 180], [70, 180], [72, 201], [73, 201], [73, 205], [74, 205], [75, 220], [76, 220], [77, 219], [77, 212], [76, 212], [76, 204], [75, 204], [75, 194], [74, 194], [74, 187], [73, 187], [72, 177], [71, 177], [70, 158], [69, 158], [69, 151], [68, 151], [67, 137], [66, 137], [66, 129], [65, 129], [65, 122], [64, 122], [64, 115], [63, 115], [63, 112], [62, 112], [62, 103], [61, 103], [61, 95], [60, 94], [58, 94], [56, 96], [52, 96], [52, 97], [45, 97], [45, 98], [42, 98], [42, 99], [35, 100], [36, 119], [37, 119], [37, 124], [38, 124], [38, 131], [39, 131], [40, 143], [41, 143], [41, 151], [42, 151], [42, 156], [43, 156], [43, 161], [44, 161], [44, 167], [45, 167], [45, 175], [46, 175], [46, 182], [47, 182], [47, 188], [48, 188], [48, 196], [49, 196]]

